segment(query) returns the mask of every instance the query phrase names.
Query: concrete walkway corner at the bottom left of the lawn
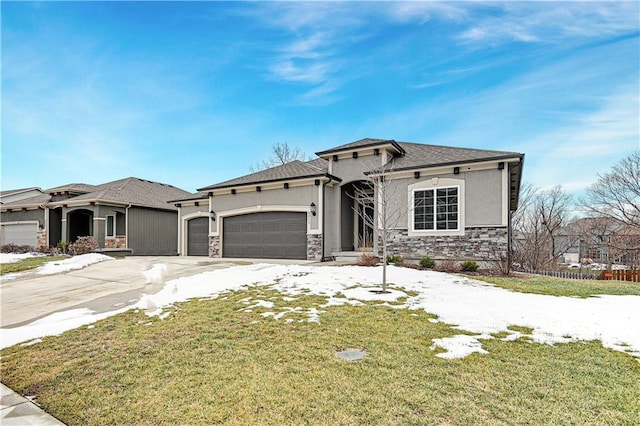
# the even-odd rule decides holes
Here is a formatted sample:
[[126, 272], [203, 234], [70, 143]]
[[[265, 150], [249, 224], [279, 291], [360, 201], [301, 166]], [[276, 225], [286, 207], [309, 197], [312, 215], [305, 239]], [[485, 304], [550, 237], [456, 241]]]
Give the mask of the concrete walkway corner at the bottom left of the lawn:
[[64, 426], [60, 420], [44, 412], [28, 399], [0, 384], [0, 424], [2, 426]]

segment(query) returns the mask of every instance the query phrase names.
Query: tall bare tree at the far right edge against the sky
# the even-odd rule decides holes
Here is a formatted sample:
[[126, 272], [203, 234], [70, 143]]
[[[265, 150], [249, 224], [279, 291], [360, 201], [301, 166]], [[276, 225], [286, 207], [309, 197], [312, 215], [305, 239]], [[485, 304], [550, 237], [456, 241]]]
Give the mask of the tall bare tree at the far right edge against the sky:
[[598, 175], [580, 205], [591, 217], [607, 217], [640, 230], [640, 151], [635, 151]]

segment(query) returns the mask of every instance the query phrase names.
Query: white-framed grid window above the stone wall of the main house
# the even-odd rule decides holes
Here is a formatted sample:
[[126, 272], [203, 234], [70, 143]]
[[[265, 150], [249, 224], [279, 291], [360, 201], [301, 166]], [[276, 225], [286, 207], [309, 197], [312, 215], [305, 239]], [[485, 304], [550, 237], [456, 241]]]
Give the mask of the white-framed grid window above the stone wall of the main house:
[[459, 229], [458, 187], [421, 189], [413, 193], [413, 229], [446, 231]]

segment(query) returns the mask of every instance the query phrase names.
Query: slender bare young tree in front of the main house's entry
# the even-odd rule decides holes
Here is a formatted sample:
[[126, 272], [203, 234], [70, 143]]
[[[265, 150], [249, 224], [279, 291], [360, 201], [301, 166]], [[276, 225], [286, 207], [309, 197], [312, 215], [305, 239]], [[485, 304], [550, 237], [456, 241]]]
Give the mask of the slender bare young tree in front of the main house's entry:
[[[374, 169], [373, 164], [371, 169]], [[392, 173], [393, 165], [389, 164], [383, 170], [367, 175], [363, 185], [354, 187], [354, 198], [364, 201], [365, 206], [356, 212], [367, 226], [374, 229], [374, 244], [382, 246], [383, 293], [387, 292], [388, 245], [394, 230], [406, 220], [408, 212], [406, 200], [403, 198], [405, 192], [400, 191], [398, 182], [390, 177]], [[368, 209], [373, 209], [373, 212]]]

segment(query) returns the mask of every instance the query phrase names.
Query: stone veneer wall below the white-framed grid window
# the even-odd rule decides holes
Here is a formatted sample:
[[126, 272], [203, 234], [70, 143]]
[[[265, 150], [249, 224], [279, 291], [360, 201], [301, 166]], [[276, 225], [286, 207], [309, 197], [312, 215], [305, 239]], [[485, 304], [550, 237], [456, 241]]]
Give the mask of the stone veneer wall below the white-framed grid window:
[[410, 237], [407, 230], [391, 236], [387, 251], [407, 259], [498, 261], [507, 253], [507, 228], [467, 228], [464, 236]]

